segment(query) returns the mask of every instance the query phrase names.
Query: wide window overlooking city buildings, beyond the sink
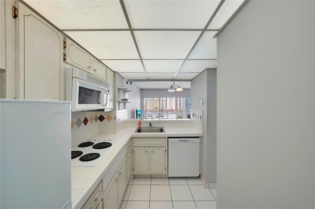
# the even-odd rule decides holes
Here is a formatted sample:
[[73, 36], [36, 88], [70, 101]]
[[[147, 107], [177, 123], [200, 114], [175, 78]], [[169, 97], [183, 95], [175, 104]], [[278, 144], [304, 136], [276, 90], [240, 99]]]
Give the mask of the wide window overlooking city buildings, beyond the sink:
[[143, 119], [190, 119], [190, 97], [143, 98]]

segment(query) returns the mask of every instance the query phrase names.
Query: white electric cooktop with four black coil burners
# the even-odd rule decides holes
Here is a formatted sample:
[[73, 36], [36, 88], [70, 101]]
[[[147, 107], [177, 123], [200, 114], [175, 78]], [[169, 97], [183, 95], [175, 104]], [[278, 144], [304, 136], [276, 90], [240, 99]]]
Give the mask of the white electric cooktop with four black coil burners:
[[71, 148], [71, 166], [73, 167], [94, 167], [114, 147], [118, 139], [102, 139], [91, 137]]

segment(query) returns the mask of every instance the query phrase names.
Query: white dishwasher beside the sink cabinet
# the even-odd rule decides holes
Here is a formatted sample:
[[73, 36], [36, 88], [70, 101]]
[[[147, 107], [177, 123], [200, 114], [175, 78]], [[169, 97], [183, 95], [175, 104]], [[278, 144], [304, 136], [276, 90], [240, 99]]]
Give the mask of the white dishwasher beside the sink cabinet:
[[168, 177], [199, 176], [199, 137], [168, 138]]

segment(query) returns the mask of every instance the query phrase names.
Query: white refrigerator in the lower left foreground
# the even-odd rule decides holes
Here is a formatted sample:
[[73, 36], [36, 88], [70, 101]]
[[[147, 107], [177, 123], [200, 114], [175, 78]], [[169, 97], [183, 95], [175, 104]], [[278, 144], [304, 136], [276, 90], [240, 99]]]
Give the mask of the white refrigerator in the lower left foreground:
[[69, 102], [0, 99], [0, 208], [71, 209]]

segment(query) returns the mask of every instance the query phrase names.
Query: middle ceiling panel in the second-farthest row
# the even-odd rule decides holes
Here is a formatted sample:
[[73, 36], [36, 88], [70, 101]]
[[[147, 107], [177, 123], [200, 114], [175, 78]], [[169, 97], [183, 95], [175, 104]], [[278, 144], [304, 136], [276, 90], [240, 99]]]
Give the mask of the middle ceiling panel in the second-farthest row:
[[143, 60], [148, 73], [176, 73], [184, 60]]

